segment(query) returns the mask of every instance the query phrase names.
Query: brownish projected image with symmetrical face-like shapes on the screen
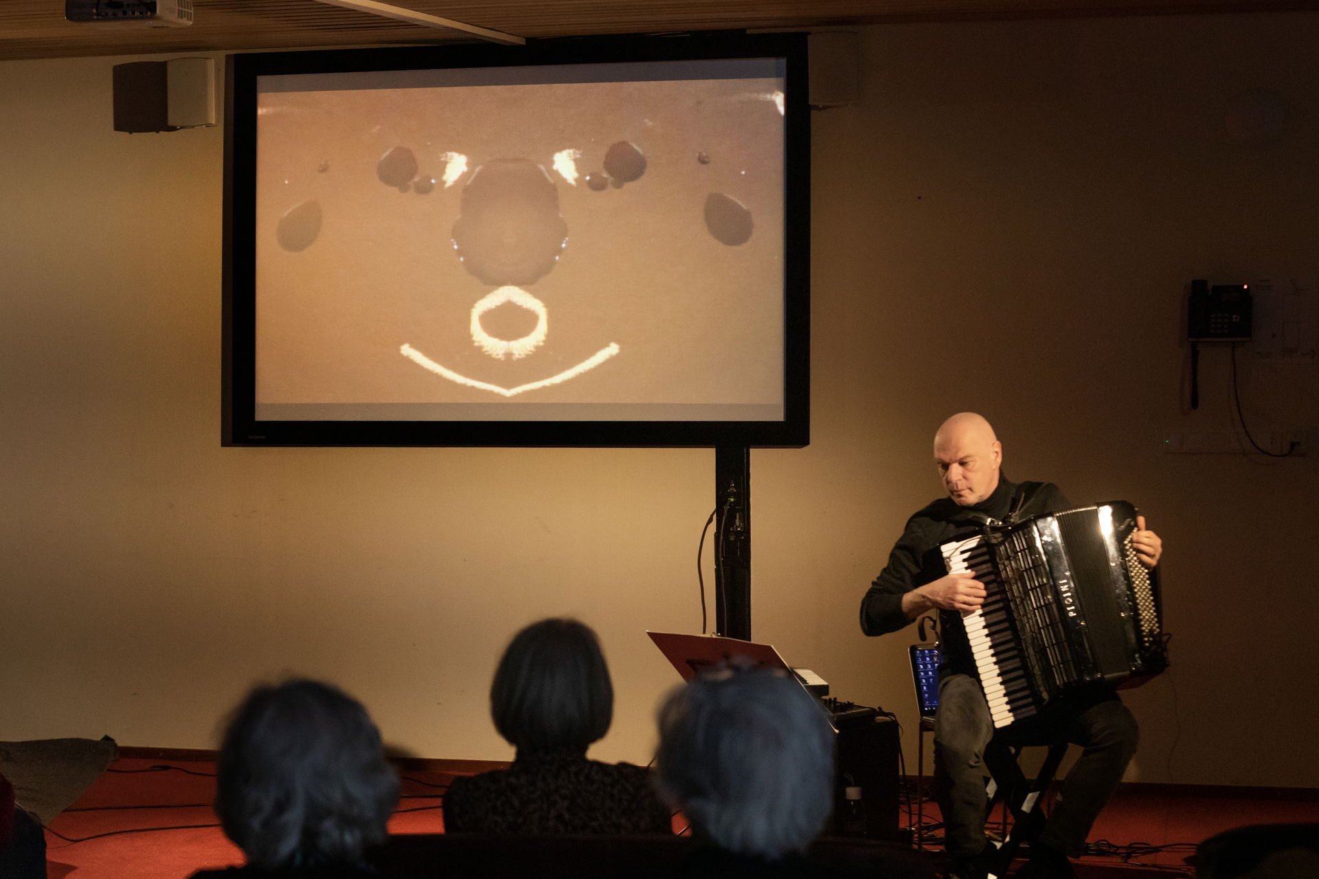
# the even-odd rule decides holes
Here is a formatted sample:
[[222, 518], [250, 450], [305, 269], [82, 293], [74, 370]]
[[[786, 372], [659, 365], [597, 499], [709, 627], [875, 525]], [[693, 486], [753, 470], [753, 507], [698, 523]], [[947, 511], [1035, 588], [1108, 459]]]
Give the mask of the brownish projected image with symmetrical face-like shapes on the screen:
[[262, 78], [259, 418], [782, 417], [780, 78], [405, 75]]

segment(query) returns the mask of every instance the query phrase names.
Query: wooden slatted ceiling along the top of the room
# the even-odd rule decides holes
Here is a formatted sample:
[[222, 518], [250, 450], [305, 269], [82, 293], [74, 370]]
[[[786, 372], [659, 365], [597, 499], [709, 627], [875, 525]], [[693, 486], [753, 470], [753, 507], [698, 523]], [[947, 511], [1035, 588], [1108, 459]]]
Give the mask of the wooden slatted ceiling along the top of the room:
[[[66, 21], [62, 0], [0, 1], [0, 61], [243, 49], [470, 42], [315, 0], [194, 0], [194, 24]], [[884, 21], [1314, 11], [1319, 0], [397, 0], [526, 38], [813, 28]]]

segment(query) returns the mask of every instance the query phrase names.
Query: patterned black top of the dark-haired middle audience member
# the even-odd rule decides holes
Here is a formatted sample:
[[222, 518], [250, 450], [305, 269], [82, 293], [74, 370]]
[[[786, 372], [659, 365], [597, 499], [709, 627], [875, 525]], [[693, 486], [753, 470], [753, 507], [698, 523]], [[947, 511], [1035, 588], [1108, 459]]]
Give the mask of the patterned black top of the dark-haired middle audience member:
[[448, 833], [528, 835], [671, 833], [649, 769], [599, 763], [580, 751], [518, 751], [506, 769], [454, 779]]

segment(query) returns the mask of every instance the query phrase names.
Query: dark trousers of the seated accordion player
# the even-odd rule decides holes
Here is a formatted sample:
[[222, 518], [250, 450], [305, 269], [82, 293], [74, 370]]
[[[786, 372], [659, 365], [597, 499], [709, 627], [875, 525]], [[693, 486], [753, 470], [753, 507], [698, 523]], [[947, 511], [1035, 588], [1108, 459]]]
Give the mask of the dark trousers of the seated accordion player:
[[[977, 854], [985, 845], [984, 750], [995, 736], [980, 682], [948, 674], [939, 682], [934, 718], [935, 798], [943, 812], [944, 847], [954, 857]], [[1082, 748], [1067, 773], [1041, 845], [1078, 857], [1100, 809], [1117, 789], [1136, 754], [1136, 718], [1108, 686], [1080, 689], [1050, 702], [1039, 714], [998, 732], [1004, 744], [1070, 742]]]

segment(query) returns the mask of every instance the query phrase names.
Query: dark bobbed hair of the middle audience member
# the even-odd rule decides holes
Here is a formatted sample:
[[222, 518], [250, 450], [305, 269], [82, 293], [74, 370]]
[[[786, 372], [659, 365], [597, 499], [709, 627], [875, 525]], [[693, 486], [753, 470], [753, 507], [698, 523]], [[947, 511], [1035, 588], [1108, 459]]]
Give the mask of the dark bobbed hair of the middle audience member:
[[613, 685], [595, 632], [574, 619], [518, 632], [495, 672], [491, 715], [520, 750], [584, 752], [613, 719]]

